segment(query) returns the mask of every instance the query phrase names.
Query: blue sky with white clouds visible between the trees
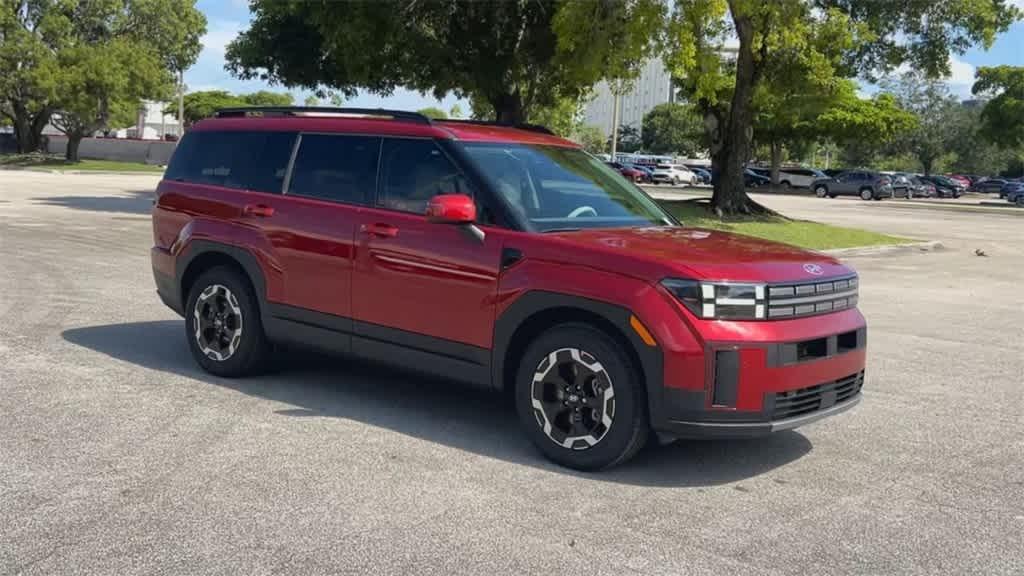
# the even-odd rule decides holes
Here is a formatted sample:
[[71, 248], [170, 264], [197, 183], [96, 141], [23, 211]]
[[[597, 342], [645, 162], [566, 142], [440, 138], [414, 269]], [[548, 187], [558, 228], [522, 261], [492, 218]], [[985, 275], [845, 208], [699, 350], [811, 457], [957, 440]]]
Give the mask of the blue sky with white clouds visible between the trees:
[[[1018, 6], [1024, 8], [1024, 0], [1015, 0]], [[243, 81], [232, 77], [224, 70], [224, 47], [239, 32], [248, 28], [250, 19], [247, 0], [199, 0], [199, 7], [206, 13], [207, 34], [203, 38], [203, 52], [191, 69], [185, 72], [185, 84], [189, 90], [222, 89], [231, 92], [252, 92], [269, 89], [289, 91], [295, 95], [296, 102], [301, 102], [308, 92], [288, 89], [282, 86], [268, 86], [260, 81]], [[1008, 32], [996, 39], [988, 50], [973, 48], [965, 54], [954, 55], [950, 60], [951, 74], [947, 79], [952, 91], [961, 97], [970, 97], [971, 84], [974, 83], [974, 71], [980, 66], [1012, 65], [1024, 66], [1024, 22], [1018, 22]], [[869, 88], [865, 91], [869, 91]], [[409, 90], [396, 90], [388, 97], [370, 93], [360, 93], [346, 104], [353, 107], [394, 108], [401, 110], [417, 110], [428, 106], [438, 106], [449, 110], [458, 100], [449, 96], [438, 102], [432, 96], [422, 95]], [[463, 111], [468, 112], [468, 105], [460, 102]]]

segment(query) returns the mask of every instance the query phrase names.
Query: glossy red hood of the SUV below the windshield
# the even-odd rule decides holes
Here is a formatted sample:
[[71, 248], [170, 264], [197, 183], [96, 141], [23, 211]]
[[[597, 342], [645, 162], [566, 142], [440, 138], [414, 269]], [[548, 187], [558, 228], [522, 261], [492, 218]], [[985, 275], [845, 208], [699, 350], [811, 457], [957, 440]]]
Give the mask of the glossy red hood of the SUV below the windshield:
[[[681, 277], [739, 282], [800, 282], [853, 274], [836, 258], [758, 238], [683, 227], [582, 230], [556, 233], [591, 252], [602, 265], [616, 265], [615, 256], [640, 259], [651, 282]], [[639, 268], [639, 266], [638, 266]], [[628, 262], [623, 270], [630, 270]]]

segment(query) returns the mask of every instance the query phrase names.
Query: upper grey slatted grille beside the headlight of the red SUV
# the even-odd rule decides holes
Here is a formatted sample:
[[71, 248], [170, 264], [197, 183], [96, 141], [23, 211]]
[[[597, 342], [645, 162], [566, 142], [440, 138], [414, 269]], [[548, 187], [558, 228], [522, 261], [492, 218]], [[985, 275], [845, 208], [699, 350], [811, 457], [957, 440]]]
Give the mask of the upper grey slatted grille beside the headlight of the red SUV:
[[768, 286], [768, 318], [788, 319], [852, 308], [857, 305], [857, 277]]

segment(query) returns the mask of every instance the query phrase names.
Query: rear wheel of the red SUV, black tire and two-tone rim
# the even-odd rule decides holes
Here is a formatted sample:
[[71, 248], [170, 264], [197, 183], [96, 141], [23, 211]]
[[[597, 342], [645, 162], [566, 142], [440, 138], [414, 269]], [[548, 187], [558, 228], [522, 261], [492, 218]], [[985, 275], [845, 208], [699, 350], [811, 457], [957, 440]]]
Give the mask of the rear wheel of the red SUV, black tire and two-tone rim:
[[[227, 335], [216, 337], [218, 329]], [[193, 283], [185, 306], [185, 338], [196, 362], [225, 378], [258, 372], [271, 352], [249, 281], [226, 266], [210, 269]]]

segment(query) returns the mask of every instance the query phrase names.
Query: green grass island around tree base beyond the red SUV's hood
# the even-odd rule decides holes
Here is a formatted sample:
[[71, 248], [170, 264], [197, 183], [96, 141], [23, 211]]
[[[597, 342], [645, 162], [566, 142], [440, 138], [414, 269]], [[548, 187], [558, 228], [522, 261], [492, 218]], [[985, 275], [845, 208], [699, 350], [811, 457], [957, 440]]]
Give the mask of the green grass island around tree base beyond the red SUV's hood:
[[793, 220], [780, 216], [742, 215], [719, 218], [708, 209], [708, 204], [703, 202], [669, 201], [662, 202], [662, 205], [688, 225], [743, 234], [812, 250], [911, 242], [906, 238], [866, 230], [834, 227], [808, 220]]

